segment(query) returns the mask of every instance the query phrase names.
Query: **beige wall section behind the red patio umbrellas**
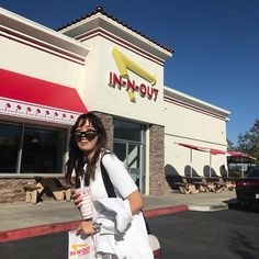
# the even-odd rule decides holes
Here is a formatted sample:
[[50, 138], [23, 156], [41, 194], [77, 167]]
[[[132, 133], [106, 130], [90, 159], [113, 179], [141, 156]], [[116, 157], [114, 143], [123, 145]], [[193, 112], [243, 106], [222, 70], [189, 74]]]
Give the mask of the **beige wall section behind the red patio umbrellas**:
[[[207, 104], [210, 105], [210, 104]], [[212, 172], [221, 176], [221, 166], [226, 166], [225, 155], [191, 150], [178, 145], [184, 143], [201, 147], [226, 150], [226, 120], [219, 115], [184, 105], [165, 101], [161, 113], [165, 121], [165, 170], [169, 174], [184, 176], [192, 167], [193, 174], [209, 173], [210, 160]], [[192, 153], [192, 154], [191, 154]], [[192, 158], [191, 158], [192, 156]]]

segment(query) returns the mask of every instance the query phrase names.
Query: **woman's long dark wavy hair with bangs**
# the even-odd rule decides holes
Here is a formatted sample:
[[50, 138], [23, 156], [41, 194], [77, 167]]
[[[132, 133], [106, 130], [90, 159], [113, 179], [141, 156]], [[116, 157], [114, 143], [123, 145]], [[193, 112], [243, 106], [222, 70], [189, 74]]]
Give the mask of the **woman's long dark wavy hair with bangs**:
[[[95, 146], [95, 153], [90, 161], [86, 160], [83, 157], [83, 153], [79, 149], [76, 138], [75, 132], [77, 127], [80, 127], [86, 124], [86, 122], [92, 124], [94, 130], [98, 132], [98, 142]], [[90, 179], [94, 179], [95, 167], [99, 159], [99, 155], [103, 148], [105, 148], [106, 144], [106, 131], [102, 124], [102, 121], [94, 114], [94, 112], [89, 112], [80, 115], [70, 132], [70, 140], [69, 140], [69, 153], [68, 153], [68, 161], [66, 164], [66, 180], [69, 184], [75, 184], [71, 180], [72, 171], [76, 172], [76, 188], [80, 187], [79, 177], [85, 176], [85, 184], [89, 185]], [[83, 166], [87, 165], [87, 170], [85, 172]]]

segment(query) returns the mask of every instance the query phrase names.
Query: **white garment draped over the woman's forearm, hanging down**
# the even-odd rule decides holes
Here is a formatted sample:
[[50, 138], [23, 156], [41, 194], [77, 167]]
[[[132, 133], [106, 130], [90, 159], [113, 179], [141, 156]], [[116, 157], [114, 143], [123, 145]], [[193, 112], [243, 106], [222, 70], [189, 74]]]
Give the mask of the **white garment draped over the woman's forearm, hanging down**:
[[101, 232], [93, 236], [98, 255], [106, 252], [119, 259], [154, 259], [143, 214], [139, 212], [133, 216], [128, 200], [106, 198], [94, 203], [103, 209], [97, 219], [102, 224]]

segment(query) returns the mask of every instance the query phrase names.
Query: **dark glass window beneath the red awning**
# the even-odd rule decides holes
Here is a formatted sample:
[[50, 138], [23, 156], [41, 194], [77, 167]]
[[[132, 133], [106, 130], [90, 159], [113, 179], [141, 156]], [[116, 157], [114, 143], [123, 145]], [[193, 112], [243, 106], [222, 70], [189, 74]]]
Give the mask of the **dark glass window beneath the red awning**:
[[0, 172], [61, 173], [66, 130], [0, 122]]

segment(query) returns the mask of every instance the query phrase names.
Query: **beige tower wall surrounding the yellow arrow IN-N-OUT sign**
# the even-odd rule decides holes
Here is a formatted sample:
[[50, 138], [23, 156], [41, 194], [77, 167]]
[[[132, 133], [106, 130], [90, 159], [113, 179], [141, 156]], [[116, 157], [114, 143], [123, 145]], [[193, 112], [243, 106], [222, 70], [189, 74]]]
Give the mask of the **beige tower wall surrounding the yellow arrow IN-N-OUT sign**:
[[[161, 124], [159, 114], [164, 106], [164, 67], [100, 36], [85, 43], [91, 48], [86, 63], [85, 88], [85, 100], [89, 109], [146, 123]], [[154, 88], [159, 90], [156, 101], [143, 98], [136, 92], [136, 102], [131, 102], [125, 88], [119, 89], [116, 86], [115, 88], [109, 86], [110, 71], [120, 75], [112, 55], [113, 47], [155, 76], [157, 83]], [[88, 63], [91, 66], [88, 66]], [[148, 81], [130, 70], [128, 77], [131, 80], [135, 80], [136, 85], [150, 86]]]

